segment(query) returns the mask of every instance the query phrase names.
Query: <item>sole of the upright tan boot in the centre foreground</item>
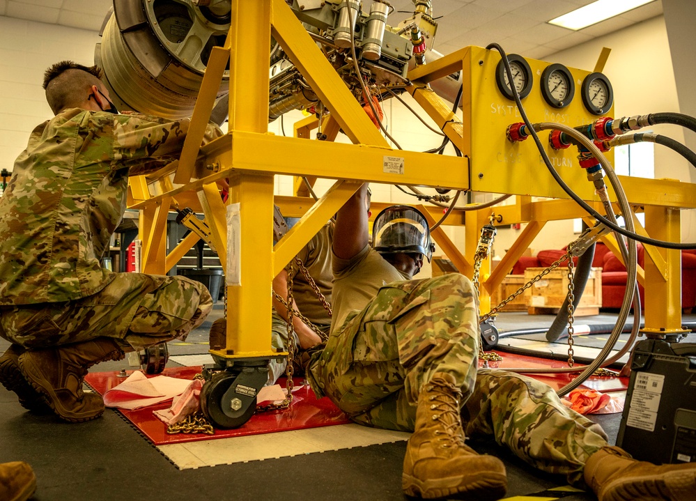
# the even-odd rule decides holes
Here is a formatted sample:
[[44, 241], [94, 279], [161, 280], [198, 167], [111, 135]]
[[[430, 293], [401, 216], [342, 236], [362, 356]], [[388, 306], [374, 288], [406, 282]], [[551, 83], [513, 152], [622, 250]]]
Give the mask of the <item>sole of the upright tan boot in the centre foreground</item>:
[[467, 500], [495, 501], [507, 491], [507, 477], [491, 473], [474, 478], [446, 477], [442, 479], [421, 480], [412, 475], [401, 477], [403, 491], [412, 497], [438, 499], [452, 495], [467, 495]]

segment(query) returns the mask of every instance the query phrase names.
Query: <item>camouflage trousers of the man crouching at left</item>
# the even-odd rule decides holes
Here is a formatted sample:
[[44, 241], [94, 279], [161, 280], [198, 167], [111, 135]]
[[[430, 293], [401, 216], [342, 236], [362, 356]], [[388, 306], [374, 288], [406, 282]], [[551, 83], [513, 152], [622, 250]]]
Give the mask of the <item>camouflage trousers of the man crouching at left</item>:
[[187, 334], [212, 309], [208, 289], [185, 277], [114, 273], [100, 292], [68, 302], [0, 308], [0, 336], [29, 349], [111, 337], [140, 350]]

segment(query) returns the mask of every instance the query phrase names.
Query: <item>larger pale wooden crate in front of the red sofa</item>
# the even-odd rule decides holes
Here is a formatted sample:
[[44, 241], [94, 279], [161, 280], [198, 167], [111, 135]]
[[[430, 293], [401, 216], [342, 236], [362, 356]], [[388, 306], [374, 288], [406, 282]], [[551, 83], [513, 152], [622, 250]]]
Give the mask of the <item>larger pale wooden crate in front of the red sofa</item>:
[[[527, 268], [525, 282], [536, 277], [543, 268]], [[568, 268], [557, 268], [525, 291], [527, 312], [534, 314], [556, 314], [568, 295]], [[575, 316], [599, 314], [602, 306], [602, 268], [592, 268], [582, 293], [582, 299], [575, 308]]]

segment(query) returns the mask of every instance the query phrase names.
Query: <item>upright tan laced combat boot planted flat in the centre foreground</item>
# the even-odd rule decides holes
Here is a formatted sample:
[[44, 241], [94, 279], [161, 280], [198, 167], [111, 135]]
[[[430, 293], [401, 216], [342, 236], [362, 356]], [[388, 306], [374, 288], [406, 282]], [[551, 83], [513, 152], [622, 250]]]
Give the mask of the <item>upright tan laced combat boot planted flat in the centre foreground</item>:
[[438, 372], [418, 399], [416, 429], [403, 460], [403, 491], [441, 498], [466, 493], [467, 499], [497, 500], [505, 495], [505, 466], [498, 458], [464, 445], [461, 391], [454, 376]]

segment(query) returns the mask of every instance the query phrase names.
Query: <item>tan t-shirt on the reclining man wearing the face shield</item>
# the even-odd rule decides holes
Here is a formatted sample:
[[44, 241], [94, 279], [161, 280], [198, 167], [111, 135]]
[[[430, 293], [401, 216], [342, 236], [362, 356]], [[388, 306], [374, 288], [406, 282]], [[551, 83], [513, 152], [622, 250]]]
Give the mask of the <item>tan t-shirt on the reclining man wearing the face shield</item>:
[[351, 259], [340, 259], [333, 254], [334, 289], [331, 330], [340, 326], [353, 310], [363, 309], [378, 293], [380, 287], [410, 280], [366, 245]]

